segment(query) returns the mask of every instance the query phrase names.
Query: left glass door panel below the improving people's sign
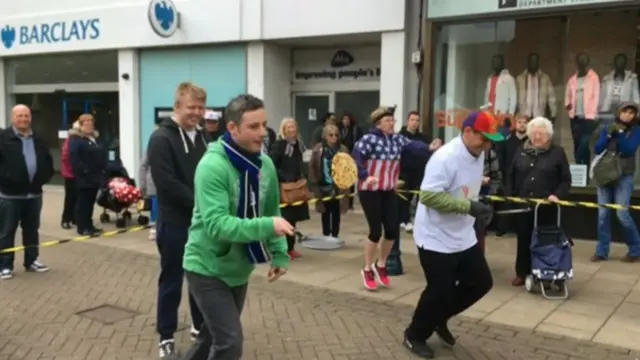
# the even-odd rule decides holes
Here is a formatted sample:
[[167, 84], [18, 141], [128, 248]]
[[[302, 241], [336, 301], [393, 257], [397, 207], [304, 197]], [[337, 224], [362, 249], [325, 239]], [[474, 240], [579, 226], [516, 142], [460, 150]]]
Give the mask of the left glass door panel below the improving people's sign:
[[293, 94], [293, 114], [298, 121], [298, 132], [307, 147], [313, 131], [321, 125], [322, 117], [331, 109], [330, 93]]

